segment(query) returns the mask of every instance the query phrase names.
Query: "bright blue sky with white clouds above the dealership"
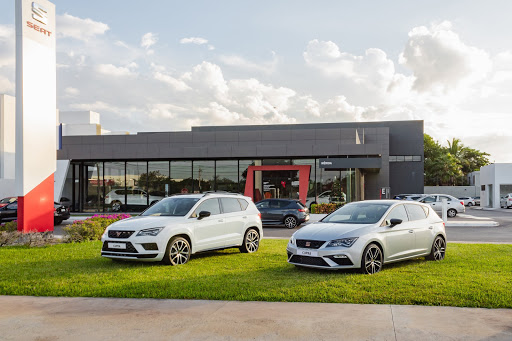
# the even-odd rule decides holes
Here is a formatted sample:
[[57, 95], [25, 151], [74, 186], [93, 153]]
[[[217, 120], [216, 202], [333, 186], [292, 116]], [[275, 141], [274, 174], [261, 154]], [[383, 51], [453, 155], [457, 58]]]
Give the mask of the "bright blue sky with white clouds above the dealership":
[[[111, 131], [424, 120], [512, 162], [512, 1], [55, 0], [57, 106]], [[14, 0], [0, 93], [15, 95]]]

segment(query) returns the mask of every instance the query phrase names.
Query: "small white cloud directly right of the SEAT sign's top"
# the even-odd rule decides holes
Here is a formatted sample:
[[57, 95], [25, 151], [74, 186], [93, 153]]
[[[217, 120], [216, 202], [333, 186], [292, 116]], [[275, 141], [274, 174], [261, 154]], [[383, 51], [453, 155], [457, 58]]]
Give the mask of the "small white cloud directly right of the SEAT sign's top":
[[57, 34], [60, 37], [70, 37], [87, 41], [109, 30], [107, 24], [92, 19], [81, 19], [71, 14], [57, 15]]

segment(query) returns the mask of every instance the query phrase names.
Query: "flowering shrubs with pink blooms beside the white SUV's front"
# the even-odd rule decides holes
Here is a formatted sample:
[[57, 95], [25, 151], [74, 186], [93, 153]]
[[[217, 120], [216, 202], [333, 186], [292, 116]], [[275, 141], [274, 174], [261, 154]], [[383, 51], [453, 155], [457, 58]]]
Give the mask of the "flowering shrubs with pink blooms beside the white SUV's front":
[[131, 215], [96, 214], [85, 220], [75, 220], [73, 224], [64, 228], [67, 233], [65, 241], [80, 243], [88, 240], [100, 240], [107, 226], [126, 218], [131, 218]]

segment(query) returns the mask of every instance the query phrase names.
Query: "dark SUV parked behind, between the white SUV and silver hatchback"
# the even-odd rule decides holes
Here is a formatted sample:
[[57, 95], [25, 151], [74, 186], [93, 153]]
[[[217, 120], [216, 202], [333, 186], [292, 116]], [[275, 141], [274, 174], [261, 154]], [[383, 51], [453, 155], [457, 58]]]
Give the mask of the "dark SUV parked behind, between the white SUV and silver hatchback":
[[293, 229], [309, 220], [309, 210], [293, 199], [265, 199], [256, 203], [263, 225], [284, 225]]

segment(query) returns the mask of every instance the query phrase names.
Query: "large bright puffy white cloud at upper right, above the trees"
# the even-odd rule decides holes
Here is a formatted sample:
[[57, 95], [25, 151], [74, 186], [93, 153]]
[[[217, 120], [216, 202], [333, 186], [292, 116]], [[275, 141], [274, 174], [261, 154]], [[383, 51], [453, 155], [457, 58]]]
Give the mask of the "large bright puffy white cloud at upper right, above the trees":
[[413, 28], [400, 63], [412, 70], [414, 89], [419, 92], [436, 87], [448, 92], [474, 84], [483, 80], [492, 66], [489, 55], [463, 43], [447, 21]]

